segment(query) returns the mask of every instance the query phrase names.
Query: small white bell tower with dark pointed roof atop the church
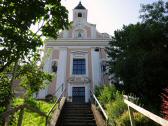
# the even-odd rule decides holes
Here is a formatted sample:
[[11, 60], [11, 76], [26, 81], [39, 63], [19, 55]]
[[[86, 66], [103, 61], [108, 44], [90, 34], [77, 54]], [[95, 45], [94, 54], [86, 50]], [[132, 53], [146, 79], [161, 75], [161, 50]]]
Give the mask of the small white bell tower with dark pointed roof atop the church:
[[81, 2], [73, 9], [73, 22], [87, 23], [87, 9], [82, 5]]

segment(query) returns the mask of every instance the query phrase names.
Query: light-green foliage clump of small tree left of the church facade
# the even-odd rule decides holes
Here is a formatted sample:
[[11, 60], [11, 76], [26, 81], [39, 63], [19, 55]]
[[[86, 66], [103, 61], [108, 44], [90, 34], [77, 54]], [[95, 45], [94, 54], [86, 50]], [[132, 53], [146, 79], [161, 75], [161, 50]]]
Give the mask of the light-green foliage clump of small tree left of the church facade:
[[37, 65], [38, 60], [35, 59], [20, 67], [19, 76], [20, 86], [25, 89], [25, 98], [32, 97], [33, 93], [37, 93], [40, 89], [45, 88], [52, 80], [52, 75], [44, 72]]

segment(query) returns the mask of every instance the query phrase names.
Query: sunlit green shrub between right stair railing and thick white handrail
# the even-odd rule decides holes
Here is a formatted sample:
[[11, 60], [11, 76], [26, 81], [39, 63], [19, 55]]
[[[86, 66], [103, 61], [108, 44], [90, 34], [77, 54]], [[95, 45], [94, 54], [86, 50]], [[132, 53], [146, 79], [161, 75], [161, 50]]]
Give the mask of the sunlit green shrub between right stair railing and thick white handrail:
[[104, 106], [110, 118], [117, 118], [126, 111], [127, 106], [123, 101], [123, 94], [117, 91], [114, 85], [97, 87], [96, 93], [100, 103]]

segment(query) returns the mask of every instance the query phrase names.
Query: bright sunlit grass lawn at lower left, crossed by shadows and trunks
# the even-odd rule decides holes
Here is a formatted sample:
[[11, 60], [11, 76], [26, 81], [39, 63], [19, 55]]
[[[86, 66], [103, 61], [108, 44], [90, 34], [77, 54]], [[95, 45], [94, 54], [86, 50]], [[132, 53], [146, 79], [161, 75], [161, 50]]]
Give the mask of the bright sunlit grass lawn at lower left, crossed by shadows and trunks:
[[[20, 105], [20, 104], [23, 104], [23, 99], [15, 99], [14, 106]], [[31, 105], [34, 104], [34, 106], [37, 106], [38, 108], [40, 108], [41, 111], [45, 112], [46, 114], [54, 105], [54, 103], [48, 103], [48, 102], [39, 101], [39, 100], [36, 100], [30, 104]], [[12, 123], [12, 126], [17, 125], [18, 114], [19, 112], [15, 114], [16, 119], [14, 122], [16, 123]], [[25, 109], [22, 126], [45, 126], [45, 120], [46, 120], [45, 117], [42, 117], [37, 113], [34, 113], [32, 111]]]

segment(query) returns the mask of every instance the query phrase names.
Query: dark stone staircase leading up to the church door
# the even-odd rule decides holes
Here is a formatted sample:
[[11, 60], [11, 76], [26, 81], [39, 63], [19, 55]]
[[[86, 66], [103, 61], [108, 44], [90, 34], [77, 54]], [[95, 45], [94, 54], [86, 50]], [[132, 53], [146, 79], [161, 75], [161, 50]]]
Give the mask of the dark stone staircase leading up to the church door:
[[66, 102], [59, 126], [96, 126], [90, 104]]

